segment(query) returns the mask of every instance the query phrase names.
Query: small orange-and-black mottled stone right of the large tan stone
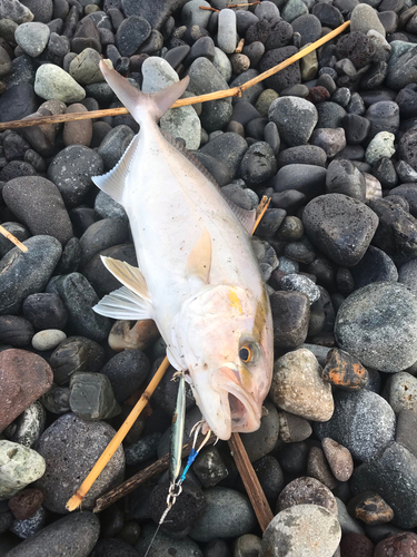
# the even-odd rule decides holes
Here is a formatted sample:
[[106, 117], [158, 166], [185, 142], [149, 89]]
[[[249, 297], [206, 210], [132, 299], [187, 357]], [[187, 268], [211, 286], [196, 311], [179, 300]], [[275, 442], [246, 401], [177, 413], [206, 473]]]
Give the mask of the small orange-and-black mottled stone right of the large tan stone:
[[368, 371], [347, 352], [332, 349], [327, 354], [322, 379], [345, 391], [363, 389], [368, 381]]

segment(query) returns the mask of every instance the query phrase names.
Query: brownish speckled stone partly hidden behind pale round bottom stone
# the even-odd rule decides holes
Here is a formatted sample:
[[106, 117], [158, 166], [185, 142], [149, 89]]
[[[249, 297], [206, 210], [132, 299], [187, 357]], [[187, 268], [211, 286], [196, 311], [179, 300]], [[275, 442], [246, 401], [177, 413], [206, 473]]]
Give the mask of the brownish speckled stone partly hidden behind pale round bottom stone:
[[277, 501], [277, 512], [296, 505], [317, 505], [337, 516], [337, 504], [332, 492], [316, 478], [301, 476], [282, 489]]

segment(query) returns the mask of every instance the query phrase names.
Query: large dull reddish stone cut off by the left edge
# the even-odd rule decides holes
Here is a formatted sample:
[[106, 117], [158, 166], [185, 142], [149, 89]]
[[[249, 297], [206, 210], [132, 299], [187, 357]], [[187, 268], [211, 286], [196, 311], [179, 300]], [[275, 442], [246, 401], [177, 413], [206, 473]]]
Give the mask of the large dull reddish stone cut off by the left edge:
[[20, 349], [0, 352], [0, 431], [46, 393], [52, 380], [52, 370], [40, 355]]

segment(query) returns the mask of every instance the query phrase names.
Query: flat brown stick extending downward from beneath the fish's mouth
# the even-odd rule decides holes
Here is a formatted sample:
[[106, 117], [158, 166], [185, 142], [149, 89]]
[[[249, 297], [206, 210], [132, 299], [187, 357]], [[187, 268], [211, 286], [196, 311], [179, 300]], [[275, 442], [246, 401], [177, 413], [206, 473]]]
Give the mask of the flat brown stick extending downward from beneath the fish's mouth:
[[228, 443], [240, 477], [245, 483], [250, 502], [252, 504], [259, 526], [261, 530], [265, 531], [269, 522], [272, 520], [274, 515], [259, 483], [258, 477], [255, 473], [254, 467], [250, 463], [248, 453], [246, 452], [239, 433], [231, 433]]

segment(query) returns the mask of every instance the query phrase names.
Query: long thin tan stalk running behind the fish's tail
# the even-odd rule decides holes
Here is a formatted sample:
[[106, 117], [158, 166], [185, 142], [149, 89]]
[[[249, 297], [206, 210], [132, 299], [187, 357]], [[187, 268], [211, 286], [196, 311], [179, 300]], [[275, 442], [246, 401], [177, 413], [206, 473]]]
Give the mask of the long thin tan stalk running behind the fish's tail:
[[[321, 37], [321, 39], [316, 40], [316, 42], [312, 42], [309, 45], [307, 48], [300, 50], [299, 52], [295, 53], [287, 60], [284, 60], [284, 62], [278, 63], [278, 66], [275, 66], [274, 68], [264, 71], [264, 74], [260, 74], [259, 76], [255, 77], [254, 79], [250, 79], [249, 81], [246, 81], [246, 84], [240, 85], [239, 87], [232, 87], [231, 89], [225, 89], [221, 91], [215, 91], [215, 92], [209, 92], [207, 95], [199, 95], [196, 97], [190, 97], [187, 99], [178, 99], [173, 105], [172, 108], [177, 108], [180, 106], [189, 106], [189, 105], [196, 105], [197, 102], [207, 102], [209, 100], [218, 100], [218, 99], [224, 99], [227, 97], [240, 97], [244, 91], [249, 89], [256, 84], [259, 84], [260, 81], [264, 81], [264, 79], [267, 79], [270, 76], [274, 76], [274, 74], [277, 74], [278, 71], [282, 70], [284, 68], [287, 68], [295, 61], [304, 58], [308, 53], [312, 52], [312, 50], [316, 50], [317, 48], [321, 47], [329, 40], [334, 39], [337, 37], [339, 33], [345, 31], [345, 29], [349, 26], [350, 21], [346, 21], [344, 25], [340, 27], [334, 29], [331, 32], [325, 35], [325, 37]], [[38, 126], [41, 124], [59, 124], [62, 121], [75, 121], [75, 120], [89, 120], [91, 118], [102, 118], [105, 116], [119, 116], [123, 114], [129, 114], [127, 108], [108, 108], [103, 110], [91, 110], [89, 113], [70, 113], [70, 114], [60, 114], [60, 115], [51, 115], [51, 116], [39, 116], [37, 118], [28, 118], [24, 120], [13, 120], [13, 121], [6, 121], [0, 124], [0, 131], [3, 129], [13, 129], [13, 128], [26, 128], [29, 126]]]

